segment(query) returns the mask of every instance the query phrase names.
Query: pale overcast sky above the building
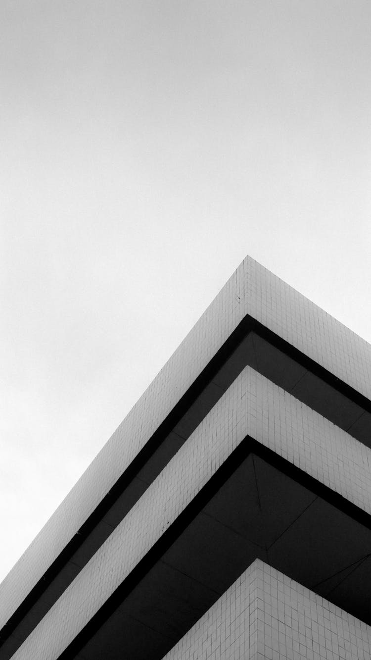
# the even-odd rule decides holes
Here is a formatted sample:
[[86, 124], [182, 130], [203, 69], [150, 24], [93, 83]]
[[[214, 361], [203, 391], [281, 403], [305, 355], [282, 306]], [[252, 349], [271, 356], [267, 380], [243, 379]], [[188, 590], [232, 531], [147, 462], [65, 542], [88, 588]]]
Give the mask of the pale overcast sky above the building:
[[371, 3], [0, 14], [1, 579], [247, 253], [371, 341]]

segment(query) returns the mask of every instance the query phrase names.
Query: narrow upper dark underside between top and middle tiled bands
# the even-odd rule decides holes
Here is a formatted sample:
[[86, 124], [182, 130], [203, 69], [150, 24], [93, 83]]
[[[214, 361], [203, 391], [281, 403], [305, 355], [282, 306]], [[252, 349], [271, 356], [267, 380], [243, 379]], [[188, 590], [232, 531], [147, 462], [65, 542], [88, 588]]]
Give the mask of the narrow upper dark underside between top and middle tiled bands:
[[0, 632], [9, 660], [246, 366], [371, 446], [371, 403], [250, 317], [239, 324]]

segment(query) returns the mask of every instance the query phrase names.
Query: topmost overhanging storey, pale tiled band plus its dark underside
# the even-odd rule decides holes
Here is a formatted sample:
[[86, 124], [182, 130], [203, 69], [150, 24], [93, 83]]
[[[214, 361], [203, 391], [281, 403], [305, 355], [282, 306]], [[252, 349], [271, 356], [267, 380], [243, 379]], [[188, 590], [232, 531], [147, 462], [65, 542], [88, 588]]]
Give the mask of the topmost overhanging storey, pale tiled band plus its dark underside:
[[22, 645], [244, 366], [370, 446], [370, 355], [360, 337], [247, 257], [0, 585], [0, 660]]

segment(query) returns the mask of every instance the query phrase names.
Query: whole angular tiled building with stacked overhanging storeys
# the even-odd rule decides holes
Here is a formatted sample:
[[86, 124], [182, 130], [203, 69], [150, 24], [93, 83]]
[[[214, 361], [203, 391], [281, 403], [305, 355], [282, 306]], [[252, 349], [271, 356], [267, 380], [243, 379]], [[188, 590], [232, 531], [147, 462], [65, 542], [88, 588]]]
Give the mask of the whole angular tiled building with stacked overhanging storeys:
[[0, 660], [371, 659], [371, 346], [246, 257], [0, 585]]

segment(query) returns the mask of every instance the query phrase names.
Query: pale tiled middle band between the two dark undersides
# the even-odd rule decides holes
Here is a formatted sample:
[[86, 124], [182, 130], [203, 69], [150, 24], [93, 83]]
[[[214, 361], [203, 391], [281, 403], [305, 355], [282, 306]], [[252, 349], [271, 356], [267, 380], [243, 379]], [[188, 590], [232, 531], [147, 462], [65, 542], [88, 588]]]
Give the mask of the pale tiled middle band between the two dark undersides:
[[57, 658], [246, 436], [371, 513], [371, 449], [246, 367], [14, 660]]

